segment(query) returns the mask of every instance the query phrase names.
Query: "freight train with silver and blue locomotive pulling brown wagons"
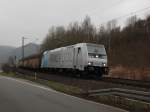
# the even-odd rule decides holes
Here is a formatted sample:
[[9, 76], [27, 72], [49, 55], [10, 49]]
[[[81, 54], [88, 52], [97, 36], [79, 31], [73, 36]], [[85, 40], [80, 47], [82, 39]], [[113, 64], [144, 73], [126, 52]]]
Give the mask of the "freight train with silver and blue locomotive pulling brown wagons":
[[107, 75], [107, 54], [104, 45], [79, 43], [48, 50], [19, 61], [29, 69], [80, 72], [84, 75]]

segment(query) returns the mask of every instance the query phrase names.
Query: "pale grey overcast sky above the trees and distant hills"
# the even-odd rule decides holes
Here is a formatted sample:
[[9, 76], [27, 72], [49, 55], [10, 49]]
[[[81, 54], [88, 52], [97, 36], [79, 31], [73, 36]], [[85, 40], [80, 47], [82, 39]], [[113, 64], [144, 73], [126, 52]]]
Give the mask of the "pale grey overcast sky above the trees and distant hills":
[[86, 15], [98, 26], [146, 7], [150, 0], [0, 0], [0, 45], [20, 46], [22, 36], [39, 43], [51, 26], [81, 22]]

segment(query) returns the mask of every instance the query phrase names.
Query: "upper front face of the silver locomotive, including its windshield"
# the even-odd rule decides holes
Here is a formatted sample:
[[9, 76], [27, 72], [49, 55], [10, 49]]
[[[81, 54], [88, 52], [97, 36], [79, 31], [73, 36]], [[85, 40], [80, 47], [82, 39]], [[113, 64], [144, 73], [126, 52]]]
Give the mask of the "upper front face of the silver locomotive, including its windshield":
[[106, 59], [106, 51], [103, 45], [87, 44], [89, 58]]

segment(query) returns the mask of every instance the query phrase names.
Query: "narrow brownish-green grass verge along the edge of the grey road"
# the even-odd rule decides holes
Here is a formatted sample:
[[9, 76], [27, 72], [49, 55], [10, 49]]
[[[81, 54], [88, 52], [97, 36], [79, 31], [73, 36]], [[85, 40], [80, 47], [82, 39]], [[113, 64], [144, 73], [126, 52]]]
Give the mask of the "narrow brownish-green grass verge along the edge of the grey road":
[[30, 80], [30, 81], [33, 81], [42, 85], [46, 85], [54, 90], [57, 90], [66, 94], [86, 98], [88, 100], [93, 100], [93, 101], [104, 103], [107, 105], [116, 106], [119, 108], [129, 110], [131, 112], [150, 112], [150, 104], [141, 102], [141, 101], [130, 100], [127, 98], [122, 98], [122, 97], [112, 96], [112, 95], [89, 97], [83, 94], [85, 93], [83, 89], [79, 87], [65, 85], [60, 82], [55, 82], [55, 81], [50, 81], [50, 80], [48, 81], [48, 80], [43, 80], [39, 78], [36, 79], [33, 76], [20, 75], [20, 74], [15, 74], [15, 73], [0, 73], [0, 75], [27, 79], [27, 80]]

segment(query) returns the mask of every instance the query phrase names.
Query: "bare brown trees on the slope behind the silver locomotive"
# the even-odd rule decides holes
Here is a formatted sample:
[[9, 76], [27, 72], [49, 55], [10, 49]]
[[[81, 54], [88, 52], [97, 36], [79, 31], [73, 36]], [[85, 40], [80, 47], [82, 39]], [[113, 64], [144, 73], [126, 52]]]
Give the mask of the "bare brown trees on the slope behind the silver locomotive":
[[81, 42], [104, 44], [110, 66], [150, 66], [150, 16], [140, 19], [132, 16], [122, 28], [112, 20], [97, 28], [90, 17], [84, 21], [51, 27], [41, 45], [41, 51]]

